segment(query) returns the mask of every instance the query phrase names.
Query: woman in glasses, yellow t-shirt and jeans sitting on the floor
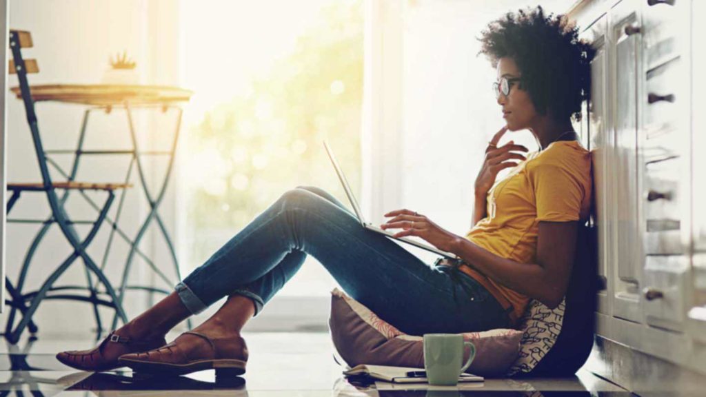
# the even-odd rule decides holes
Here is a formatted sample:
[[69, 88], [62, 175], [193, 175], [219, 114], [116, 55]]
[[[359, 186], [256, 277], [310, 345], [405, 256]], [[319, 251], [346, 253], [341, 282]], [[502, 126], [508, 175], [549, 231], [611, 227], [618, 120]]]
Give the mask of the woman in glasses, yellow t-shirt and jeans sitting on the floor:
[[[243, 374], [241, 329], [313, 255], [354, 299], [410, 334], [508, 328], [530, 299], [549, 307], [565, 295], [579, 222], [590, 208], [590, 154], [571, 117], [590, 90], [594, 52], [577, 31], [541, 7], [508, 13], [488, 25], [481, 53], [496, 67], [493, 83], [507, 125], [486, 149], [475, 182], [473, 227], [454, 235], [414, 211], [385, 214], [384, 229], [418, 236], [457, 255], [431, 267], [384, 235], [365, 230], [333, 196], [299, 186], [227, 242], [171, 295], [114, 331], [92, 350], [60, 352], [66, 365], [186, 374], [215, 368]], [[540, 150], [513, 141], [529, 129]], [[496, 182], [500, 170], [513, 167]], [[164, 336], [220, 298], [222, 307], [167, 344]]]

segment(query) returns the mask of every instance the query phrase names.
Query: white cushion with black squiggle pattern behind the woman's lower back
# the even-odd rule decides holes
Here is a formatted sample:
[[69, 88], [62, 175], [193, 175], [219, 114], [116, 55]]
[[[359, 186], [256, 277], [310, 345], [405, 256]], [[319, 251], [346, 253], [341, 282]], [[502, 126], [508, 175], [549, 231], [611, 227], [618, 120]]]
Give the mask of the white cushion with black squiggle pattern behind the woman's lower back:
[[554, 309], [549, 309], [537, 300], [530, 300], [525, 309], [525, 316], [520, 319], [519, 328], [523, 332], [520, 355], [510, 366], [508, 376], [532, 371], [554, 346], [561, 332], [565, 307], [566, 299]]

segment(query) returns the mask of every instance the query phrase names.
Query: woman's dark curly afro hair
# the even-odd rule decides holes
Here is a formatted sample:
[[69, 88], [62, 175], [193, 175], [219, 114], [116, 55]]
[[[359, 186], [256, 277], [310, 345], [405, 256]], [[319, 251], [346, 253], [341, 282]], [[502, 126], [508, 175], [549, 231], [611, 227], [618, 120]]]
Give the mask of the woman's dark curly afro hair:
[[541, 6], [508, 12], [482, 30], [481, 50], [493, 64], [512, 58], [522, 73], [520, 88], [529, 93], [539, 114], [551, 109], [555, 119], [580, 119], [590, 99], [591, 61], [595, 50], [578, 39], [578, 28], [563, 15], [544, 15]]

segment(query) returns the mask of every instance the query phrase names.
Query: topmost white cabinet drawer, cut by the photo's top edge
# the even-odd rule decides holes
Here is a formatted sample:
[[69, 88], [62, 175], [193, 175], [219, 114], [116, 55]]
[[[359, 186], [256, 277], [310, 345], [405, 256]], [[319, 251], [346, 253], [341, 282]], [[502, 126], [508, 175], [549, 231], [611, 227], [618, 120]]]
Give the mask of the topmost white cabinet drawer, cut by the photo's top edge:
[[647, 68], [661, 64], [665, 59], [684, 52], [688, 43], [688, 1], [674, 0], [650, 6], [648, 0], [642, 8], [642, 37]]

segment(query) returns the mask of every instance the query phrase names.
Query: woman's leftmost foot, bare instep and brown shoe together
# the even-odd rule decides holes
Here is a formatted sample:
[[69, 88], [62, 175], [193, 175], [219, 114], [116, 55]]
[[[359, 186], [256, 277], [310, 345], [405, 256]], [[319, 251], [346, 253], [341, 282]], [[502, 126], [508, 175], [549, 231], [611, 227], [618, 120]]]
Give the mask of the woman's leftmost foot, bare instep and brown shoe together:
[[83, 371], [109, 371], [123, 366], [118, 362], [121, 355], [151, 350], [166, 343], [163, 334], [140, 333], [131, 321], [110, 333], [96, 348], [59, 352], [56, 360]]

